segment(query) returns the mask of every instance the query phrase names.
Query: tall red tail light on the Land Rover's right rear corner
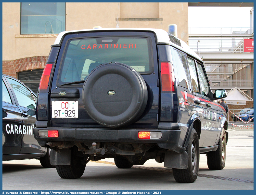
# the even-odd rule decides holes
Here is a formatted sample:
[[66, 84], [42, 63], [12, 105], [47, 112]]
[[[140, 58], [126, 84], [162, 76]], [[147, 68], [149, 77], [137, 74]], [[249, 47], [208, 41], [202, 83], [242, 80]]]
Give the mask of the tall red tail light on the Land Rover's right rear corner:
[[164, 92], [175, 92], [174, 71], [170, 62], [161, 62], [161, 87]]

